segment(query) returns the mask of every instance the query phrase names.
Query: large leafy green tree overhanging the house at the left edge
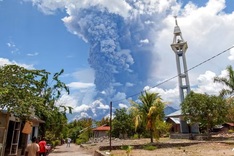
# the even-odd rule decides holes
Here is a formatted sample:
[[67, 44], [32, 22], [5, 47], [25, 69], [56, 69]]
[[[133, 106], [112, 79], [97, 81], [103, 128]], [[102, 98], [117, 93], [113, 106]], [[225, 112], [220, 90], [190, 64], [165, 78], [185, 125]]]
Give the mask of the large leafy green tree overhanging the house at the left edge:
[[56, 105], [62, 91], [69, 94], [69, 89], [59, 80], [62, 73], [63, 70], [54, 74], [52, 82], [49, 82], [50, 73], [45, 70], [30, 70], [17, 65], [0, 67], [0, 108], [23, 120], [28, 120], [35, 113], [47, 121], [41, 130], [44, 136], [46, 127], [67, 121], [61, 120], [66, 119], [67, 109], [71, 113], [71, 107]]

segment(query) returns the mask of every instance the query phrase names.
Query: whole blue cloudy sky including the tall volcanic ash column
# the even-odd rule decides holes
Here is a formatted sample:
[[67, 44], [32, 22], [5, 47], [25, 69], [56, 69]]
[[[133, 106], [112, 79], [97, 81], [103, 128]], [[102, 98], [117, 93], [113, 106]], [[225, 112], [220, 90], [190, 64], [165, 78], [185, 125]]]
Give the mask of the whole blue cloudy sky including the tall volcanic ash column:
[[191, 89], [218, 95], [213, 78], [234, 61], [233, 0], [0, 0], [0, 66], [64, 69], [71, 93], [58, 104], [74, 108], [70, 120], [102, 118], [111, 101], [128, 108], [143, 90], [179, 108], [174, 16]]

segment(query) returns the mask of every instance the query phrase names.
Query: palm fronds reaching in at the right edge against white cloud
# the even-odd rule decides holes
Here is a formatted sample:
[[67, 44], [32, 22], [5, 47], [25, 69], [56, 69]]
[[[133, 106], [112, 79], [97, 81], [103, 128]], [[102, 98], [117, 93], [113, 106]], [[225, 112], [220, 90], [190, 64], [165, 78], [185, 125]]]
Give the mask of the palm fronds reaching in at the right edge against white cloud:
[[214, 82], [219, 82], [224, 84], [227, 89], [222, 89], [220, 92], [221, 96], [225, 96], [225, 95], [230, 95], [231, 97], [234, 94], [234, 70], [232, 69], [232, 66], [227, 66], [226, 68], [227, 72], [228, 72], [228, 76], [227, 77], [215, 77], [214, 78]]

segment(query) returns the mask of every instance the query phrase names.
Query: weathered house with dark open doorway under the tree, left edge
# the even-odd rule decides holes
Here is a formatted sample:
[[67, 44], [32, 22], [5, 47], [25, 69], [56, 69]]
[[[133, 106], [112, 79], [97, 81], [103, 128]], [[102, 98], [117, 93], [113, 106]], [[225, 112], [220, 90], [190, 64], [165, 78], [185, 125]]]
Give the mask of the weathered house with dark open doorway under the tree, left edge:
[[38, 127], [44, 121], [36, 116], [28, 122], [4, 110], [0, 111], [0, 156], [24, 155], [25, 148], [33, 136], [38, 136]]

